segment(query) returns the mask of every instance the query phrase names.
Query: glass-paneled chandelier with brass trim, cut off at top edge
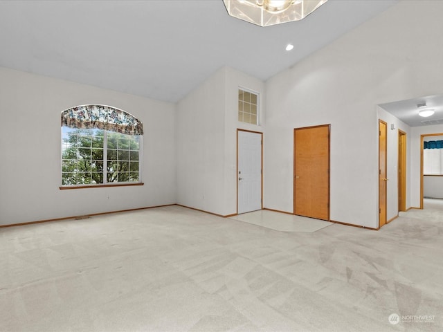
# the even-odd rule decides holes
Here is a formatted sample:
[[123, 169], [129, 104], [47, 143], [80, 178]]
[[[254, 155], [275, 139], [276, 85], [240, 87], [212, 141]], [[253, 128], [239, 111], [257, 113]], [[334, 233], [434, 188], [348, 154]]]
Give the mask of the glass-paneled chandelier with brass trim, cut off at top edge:
[[228, 14], [257, 26], [299, 21], [327, 0], [223, 0]]

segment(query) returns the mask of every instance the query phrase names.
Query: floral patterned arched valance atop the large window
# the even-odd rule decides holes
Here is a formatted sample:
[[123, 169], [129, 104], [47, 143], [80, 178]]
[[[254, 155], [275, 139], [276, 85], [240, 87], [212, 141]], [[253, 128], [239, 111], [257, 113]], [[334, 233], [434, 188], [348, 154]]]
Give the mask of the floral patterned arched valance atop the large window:
[[143, 135], [143, 123], [131, 114], [104, 105], [82, 105], [62, 111], [62, 127], [77, 129], [103, 129]]

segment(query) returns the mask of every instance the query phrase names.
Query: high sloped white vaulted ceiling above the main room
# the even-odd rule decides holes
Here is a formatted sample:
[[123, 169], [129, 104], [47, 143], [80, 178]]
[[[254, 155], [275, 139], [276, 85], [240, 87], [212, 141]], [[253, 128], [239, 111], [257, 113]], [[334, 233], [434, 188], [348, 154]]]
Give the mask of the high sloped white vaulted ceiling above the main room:
[[0, 66], [177, 102], [221, 66], [267, 80], [396, 1], [329, 0], [262, 28], [222, 0], [3, 0]]

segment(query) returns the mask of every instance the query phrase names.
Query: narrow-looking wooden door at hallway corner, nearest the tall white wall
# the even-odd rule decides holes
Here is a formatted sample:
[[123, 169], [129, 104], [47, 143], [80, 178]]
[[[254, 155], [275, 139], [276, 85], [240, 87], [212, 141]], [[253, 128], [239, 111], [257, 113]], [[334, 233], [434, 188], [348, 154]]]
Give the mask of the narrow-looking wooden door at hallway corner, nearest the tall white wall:
[[387, 145], [386, 122], [379, 120], [379, 227], [386, 224]]

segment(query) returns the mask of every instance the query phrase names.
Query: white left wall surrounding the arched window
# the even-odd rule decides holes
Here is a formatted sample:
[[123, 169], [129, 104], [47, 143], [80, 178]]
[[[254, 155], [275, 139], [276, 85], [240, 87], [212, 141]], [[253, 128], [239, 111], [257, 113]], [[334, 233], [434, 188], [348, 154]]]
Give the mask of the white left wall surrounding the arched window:
[[[60, 113], [81, 104], [117, 107], [143, 122], [145, 185], [59, 189]], [[0, 225], [176, 201], [174, 104], [0, 68], [0, 116]]]

